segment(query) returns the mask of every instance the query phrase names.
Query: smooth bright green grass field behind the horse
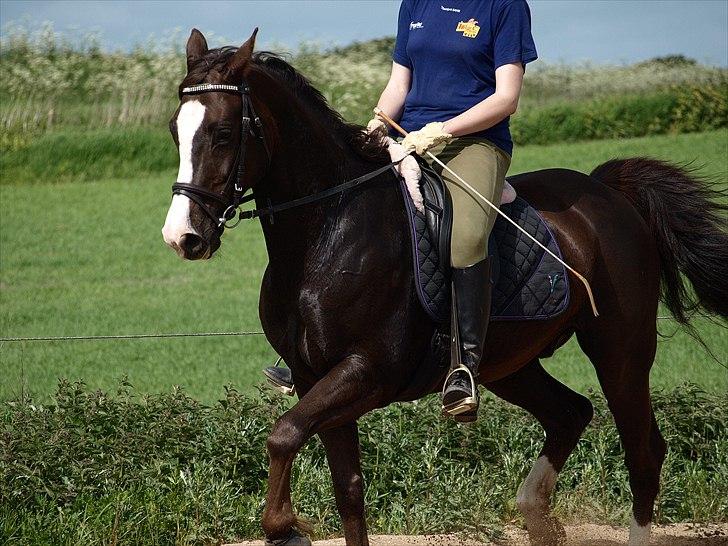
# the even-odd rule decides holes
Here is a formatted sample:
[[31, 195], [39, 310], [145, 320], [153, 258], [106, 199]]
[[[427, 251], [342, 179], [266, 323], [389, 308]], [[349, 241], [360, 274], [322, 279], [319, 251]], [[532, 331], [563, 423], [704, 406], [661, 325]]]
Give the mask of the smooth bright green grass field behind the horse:
[[[588, 172], [631, 155], [695, 161], [703, 174], [725, 183], [728, 131], [523, 147], [511, 172], [555, 166]], [[260, 227], [244, 223], [226, 233], [210, 262], [180, 261], [160, 234], [173, 177], [170, 171], [139, 179], [0, 186], [2, 336], [259, 330], [258, 289], [266, 262]], [[203, 288], [207, 295], [201, 299]], [[726, 330], [707, 320], [698, 328], [725, 361]], [[675, 325], [664, 321], [661, 330], [673, 332]], [[182, 385], [210, 402], [227, 383], [249, 391], [274, 357], [262, 336], [5, 342], [0, 398], [30, 391], [43, 399], [59, 377], [113, 389], [127, 375], [141, 392]], [[546, 365], [579, 390], [596, 386], [591, 365], [573, 343]], [[672, 387], [684, 380], [709, 391], [728, 390], [728, 372], [677, 334], [660, 342], [652, 383]]]

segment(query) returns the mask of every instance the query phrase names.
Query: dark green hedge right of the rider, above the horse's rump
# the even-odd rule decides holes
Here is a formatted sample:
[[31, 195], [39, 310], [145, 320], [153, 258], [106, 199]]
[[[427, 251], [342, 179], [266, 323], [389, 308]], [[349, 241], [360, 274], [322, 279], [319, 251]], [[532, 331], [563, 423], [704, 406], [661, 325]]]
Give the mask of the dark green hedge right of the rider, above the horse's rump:
[[691, 133], [728, 127], [728, 84], [601, 98], [519, 111], [516, 144]]

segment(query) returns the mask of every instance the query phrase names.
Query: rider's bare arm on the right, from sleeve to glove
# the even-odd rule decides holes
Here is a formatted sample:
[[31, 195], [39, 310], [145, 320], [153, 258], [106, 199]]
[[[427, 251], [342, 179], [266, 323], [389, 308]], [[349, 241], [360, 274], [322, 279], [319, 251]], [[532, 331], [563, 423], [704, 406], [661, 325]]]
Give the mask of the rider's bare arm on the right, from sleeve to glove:
[[511, 63], [495, 71], [495, 93], [445, 122], [443, 132], [458, 137], [483, 131], [515, 113], [523, 83], [523, 65]]

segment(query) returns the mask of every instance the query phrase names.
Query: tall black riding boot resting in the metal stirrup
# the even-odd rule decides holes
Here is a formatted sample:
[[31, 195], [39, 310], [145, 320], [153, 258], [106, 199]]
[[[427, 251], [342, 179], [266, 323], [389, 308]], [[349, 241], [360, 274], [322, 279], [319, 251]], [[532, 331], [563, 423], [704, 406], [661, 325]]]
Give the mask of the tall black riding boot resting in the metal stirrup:
[[478, 415], [478, 366], [490, 321], [490, 257], [470, 267], [453, 268], [452, 285], [451, 337], [455, 346], [442, 391], [442, 409], [467, 423]]

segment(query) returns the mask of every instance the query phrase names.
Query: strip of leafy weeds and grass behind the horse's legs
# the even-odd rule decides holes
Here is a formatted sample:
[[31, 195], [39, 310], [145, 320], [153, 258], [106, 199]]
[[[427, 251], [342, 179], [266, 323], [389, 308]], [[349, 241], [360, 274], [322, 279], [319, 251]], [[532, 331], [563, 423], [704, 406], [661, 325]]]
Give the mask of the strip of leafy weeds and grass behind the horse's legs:
[[[556, 512], [624, 524], [631, 495], [612, 418], [596, 414], [562, 472]], [[668, 445], [658, 520], [728, 519], [728, 398], [695, 386], [658, 393]], [[0, 537], [6, 544], [202, 544], [261, 535], [265, 438], [285, 410], [227, 388], [205, 406], [179, 390], [109, 396], [61, 382], [51, 404], [0, 408]], [[519, 519], [515, 492], [543, 432], [486, 397], [472, 427], [444, 420], [436, 397], [362, 420], [369, 524], [376, 533], [492, 535]], [[318, 441], [295, 465], [293, 498], [317, 536], [339, 532]]]

